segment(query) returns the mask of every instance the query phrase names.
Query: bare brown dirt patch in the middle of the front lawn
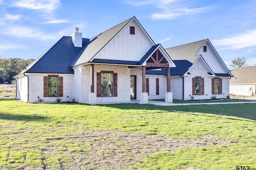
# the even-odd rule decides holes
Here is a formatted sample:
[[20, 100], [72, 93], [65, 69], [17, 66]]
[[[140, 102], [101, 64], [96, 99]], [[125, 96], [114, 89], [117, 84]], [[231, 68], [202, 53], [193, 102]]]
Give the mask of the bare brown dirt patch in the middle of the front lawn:
[[[81, 156], [73, 154], [74, 169], [127, 169], [142, 162], [142, 157], [179, 148], [208, 147], [228, 145], [230, 141], [212, 135], [200, 139], [169, 139], [159, 135], [142, 135], [122, 131], [84, 131], [76, 135], [67, 135], [74, 143], [89, 143]], [[72, 164], [74, 166], [74, 164]]]

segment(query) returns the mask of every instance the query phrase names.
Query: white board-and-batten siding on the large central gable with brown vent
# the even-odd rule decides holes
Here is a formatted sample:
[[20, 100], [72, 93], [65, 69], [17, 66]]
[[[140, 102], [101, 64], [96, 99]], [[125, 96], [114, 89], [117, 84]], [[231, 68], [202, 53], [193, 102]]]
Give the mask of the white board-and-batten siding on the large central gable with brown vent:
[[[135, 35], [130, 34], [130, 26], [135, 27]], [[140, 25], [132, 21], [95, 56], [95, 59], [140, 61], [153, 45]]]

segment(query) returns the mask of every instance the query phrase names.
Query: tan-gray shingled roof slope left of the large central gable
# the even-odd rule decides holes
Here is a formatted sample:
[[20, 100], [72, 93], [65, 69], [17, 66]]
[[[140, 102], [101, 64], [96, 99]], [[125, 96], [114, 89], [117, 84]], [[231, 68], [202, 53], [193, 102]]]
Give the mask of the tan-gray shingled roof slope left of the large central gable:
[[107, 31], [90, 39], [88, 47], [83, 53], [77, 57], [77, 61], [72, 63], [72, 66], [86, 63], [92, 59], [130, 20], [134, 17], [108, 29]]

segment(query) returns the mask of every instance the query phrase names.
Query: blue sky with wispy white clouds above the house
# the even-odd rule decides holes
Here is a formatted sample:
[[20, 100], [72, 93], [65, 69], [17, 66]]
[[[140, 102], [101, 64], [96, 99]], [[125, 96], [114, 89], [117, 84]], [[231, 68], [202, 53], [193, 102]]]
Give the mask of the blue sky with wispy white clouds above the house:
[[256, 63], [255, 0], [0, 0], [0, 56], [36, 59], [79, 27], [82, 37], [135, 16], [164, 48], [209, 39], [224, 63]]

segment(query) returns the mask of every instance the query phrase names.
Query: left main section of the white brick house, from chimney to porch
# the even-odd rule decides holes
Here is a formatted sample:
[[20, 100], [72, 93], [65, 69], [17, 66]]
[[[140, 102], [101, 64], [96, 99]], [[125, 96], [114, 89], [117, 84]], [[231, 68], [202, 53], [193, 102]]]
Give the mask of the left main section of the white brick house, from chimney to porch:
[[[91, 39], [78, 28], [62, 37], [14, 78], [16, 96], [25, 102], [148, 103], [146, 70], [166, 68], [159, 81], [160, 98], [172, 102], [170, 68], [175, 64], [160, 44], [155, 44], [135, 17]], [[165, 82], [162, 82], [165, 81]], [[164, 84], [164, 88], [160, 87]], [[159, 94], [155, 97], [159, 98]]]

